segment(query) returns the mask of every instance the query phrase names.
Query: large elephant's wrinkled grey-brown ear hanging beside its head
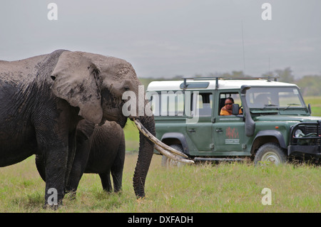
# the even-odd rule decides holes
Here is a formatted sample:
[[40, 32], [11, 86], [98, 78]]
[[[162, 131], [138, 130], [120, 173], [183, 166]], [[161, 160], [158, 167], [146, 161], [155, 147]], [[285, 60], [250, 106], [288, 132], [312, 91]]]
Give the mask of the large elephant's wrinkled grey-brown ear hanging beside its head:
[[51, 73], [51, 90], [57, 97], [79, 107], [79, 115], [99, 124], [103, 117], [98, 88], [99, 68], [83, 52], [65, 51]]

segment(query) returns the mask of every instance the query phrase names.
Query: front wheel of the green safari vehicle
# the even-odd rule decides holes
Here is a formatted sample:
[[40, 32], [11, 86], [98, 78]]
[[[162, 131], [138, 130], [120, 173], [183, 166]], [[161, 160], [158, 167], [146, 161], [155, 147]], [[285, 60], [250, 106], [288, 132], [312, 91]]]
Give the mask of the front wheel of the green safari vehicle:
[[274, 164], [282, 164], [287, 161], [285, 153], [281, 147], [275, 143], [263, 144], [258, 152], [255, 154], [254, 164], [264, 164], [264, 162], [271, 162]]

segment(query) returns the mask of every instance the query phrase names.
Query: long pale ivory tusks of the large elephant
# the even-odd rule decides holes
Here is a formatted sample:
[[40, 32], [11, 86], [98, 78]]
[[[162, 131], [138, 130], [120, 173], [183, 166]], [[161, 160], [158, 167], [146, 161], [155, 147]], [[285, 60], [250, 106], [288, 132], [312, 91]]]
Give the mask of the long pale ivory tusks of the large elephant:
[[158, 152], [163, 154], [165, 157], [186, 164], [194, 163], [193, 160], [187, 159], [188, 156], [186, 154], [179, 152], [176, 149], [173, 149], [173, 147], [169, 147], [167, 144], [164, 144], [159, 139], [154, 137], [153, 134], [151, 134], [151, 132], [148, 132], [148, 130], [146, 130], [146, 127], [144, 127], [138, 119], [133, 118], [133, 122], [135, 122], [135, 125], [138, 128], [138, 130], [155, 144], [155, 149], [158, 150]]

